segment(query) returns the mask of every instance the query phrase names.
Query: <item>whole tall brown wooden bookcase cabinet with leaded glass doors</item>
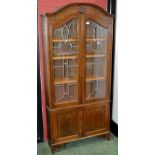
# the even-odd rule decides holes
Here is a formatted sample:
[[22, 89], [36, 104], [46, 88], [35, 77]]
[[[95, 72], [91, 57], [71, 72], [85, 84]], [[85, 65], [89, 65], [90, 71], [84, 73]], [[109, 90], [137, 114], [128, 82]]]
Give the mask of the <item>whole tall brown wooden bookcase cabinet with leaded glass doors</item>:
[[93, 4], [42, 15], [48, 141], [110, 132], [113, 18]]

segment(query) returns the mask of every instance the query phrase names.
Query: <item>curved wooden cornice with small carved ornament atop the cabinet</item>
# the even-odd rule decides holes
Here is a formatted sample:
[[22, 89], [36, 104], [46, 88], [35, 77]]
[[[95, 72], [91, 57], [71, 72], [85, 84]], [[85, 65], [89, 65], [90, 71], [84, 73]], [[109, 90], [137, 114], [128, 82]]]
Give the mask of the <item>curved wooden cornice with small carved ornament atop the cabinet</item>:
[[98, 6], [96, 4], [92, 4], [92, 3], [71, 3], [71, 4], [68, 4], [68, 5], [66, 5], [66, 6], [56, 10], [53, 13], [46, 13], [45, 15], [47, 17], [52, 17], [54, 15], [59, 14], [60, 12], [66, 11], [68, 9], [75, 9], [77, 7], [79, 7], [79, 9], [80, 9], [79, 10], [80, 13], [84, 13], [85, 12], [85, 8], [93, 8], [93, 9], [96, 9], [96, 10], [102, 12], [105, 16], [112, 17], [108, 12], [106, 12], [100, 6]]

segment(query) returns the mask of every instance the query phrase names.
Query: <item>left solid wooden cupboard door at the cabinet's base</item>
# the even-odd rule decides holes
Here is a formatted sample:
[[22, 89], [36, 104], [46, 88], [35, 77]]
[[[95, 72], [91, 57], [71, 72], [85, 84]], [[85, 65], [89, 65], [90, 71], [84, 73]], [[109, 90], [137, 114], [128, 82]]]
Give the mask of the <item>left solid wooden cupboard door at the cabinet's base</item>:
[[52, 112], [52, 122], [54, 143], [77, 139], [82, 133], [82, 113], [79, 110]]

